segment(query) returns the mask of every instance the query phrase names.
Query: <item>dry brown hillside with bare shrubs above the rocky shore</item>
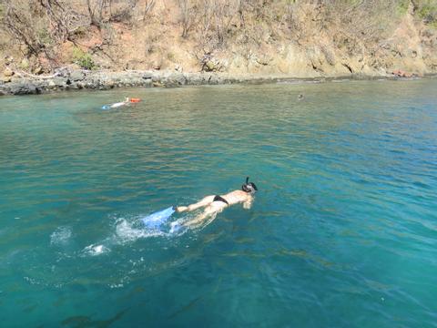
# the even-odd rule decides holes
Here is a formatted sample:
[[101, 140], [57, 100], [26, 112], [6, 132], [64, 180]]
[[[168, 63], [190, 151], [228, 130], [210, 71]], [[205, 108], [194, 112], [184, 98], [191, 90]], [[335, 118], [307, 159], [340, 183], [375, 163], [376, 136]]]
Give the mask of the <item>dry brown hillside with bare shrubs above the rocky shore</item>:
[[437, 73], [433, 0], [14, 3], [0, 0], [5, 82], [15, 71], [66, 66], [293, 77]]

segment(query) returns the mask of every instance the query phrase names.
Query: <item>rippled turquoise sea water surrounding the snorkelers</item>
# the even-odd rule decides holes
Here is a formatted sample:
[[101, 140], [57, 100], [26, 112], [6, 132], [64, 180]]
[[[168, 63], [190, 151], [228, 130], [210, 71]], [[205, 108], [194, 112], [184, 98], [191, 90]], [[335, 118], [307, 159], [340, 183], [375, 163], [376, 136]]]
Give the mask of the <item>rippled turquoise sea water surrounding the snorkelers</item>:
[[[0, 97], [1, 325], [437, 327], [436, 90]], [[125, 95], [143, 102], [99, 109]], [[250, 210], [139, 222], [247, 175]]]

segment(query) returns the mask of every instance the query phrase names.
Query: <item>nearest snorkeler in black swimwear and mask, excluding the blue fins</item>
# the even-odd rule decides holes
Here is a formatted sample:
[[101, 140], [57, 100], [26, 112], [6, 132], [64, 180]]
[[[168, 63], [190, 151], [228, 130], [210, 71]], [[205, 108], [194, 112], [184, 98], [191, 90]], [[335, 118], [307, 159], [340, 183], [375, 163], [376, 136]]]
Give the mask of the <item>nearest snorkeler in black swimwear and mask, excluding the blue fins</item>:
[[178, 213], [183, 213], [192, 210], [198, 210], [205, 208], [201, 214], [199, 214], [193, 220], [183, 223], [184, 226], [197, 225], [201, 221], [208, 217], [221, 212], [230, 205], [243, 204], [243, 208], [249, 210], [253, 202], [253, 194], [258, 191], [257, 186], [253, 182], [249, 182], [249, 177], [246, 178], [246, 183], [241, 186], [241, 190], [230, 191], [226, 195], [212, 195], [203, 198], [197, 203], [188, 206], [177, 206], [175, 210]]

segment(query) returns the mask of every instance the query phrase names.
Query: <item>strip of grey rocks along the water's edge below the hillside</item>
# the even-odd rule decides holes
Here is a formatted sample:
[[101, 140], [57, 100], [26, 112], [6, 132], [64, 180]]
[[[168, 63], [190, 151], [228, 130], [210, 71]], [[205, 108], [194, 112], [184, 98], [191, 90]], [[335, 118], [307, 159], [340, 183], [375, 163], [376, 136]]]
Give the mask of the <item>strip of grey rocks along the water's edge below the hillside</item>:
[[39, 95], [71, 90], [109, 90], [116, 87], [184, 87], [214, 86], [231, 84], [269, 83], [321, 83], [350, 80], [412, 80], [437, 77], [427, 74], [423, 77], [397, 77], [395, 75], [350, 74], [325, 77], [293, 77], [291, 75], [229, 75], [227, 73], [182, 73], [170, 71], [87, 71], [58, 70], [52, 76], [11, 77], [10, 82], [0, 82], [0, 96]]

